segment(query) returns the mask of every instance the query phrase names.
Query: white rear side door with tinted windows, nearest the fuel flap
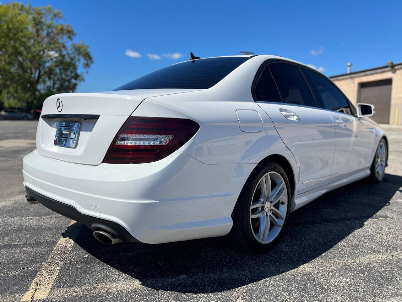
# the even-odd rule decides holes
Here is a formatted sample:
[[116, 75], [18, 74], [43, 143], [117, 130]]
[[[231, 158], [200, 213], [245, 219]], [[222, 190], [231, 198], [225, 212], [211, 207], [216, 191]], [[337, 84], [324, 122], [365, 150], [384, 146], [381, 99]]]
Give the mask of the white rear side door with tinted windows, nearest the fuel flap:
[[253, 93], [296, 159], [298, 194], [328, 184], [335, 151], [334, 122], [317, 107], [299, 66], [268, 64], [260, 71]]

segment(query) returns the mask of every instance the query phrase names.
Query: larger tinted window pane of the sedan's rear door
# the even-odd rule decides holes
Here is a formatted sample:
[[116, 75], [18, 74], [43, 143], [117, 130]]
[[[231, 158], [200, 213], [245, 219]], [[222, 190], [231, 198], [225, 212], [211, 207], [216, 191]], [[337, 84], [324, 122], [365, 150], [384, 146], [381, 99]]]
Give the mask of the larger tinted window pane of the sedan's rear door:
[[269, 64], [284, 103], [316, 107], [310, 87], [299, 67], [285, 63]]

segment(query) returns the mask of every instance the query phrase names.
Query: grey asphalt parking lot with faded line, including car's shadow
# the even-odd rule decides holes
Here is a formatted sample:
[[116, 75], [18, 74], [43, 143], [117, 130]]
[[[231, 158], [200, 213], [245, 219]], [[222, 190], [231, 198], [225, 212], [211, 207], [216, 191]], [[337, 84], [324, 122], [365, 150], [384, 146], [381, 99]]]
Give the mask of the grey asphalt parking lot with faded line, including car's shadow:
[[0, 121], [1, 301], [402, 301], [402, 128], [384, 127], [381, 184], [359, 181], [291, 213], [279, 245], [222, 238], [160, 245], [95, 240], [24, 199], [35, 121]]

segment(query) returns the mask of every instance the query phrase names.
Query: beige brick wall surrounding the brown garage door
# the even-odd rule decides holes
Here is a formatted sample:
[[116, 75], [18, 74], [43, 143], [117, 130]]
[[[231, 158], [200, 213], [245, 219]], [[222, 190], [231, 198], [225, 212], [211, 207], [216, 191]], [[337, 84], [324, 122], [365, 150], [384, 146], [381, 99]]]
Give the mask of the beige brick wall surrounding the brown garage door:
[[378, 72], [367, 75], [351, 75], [344, 79], [332, 79], [334, 83], [345, 93], [345, 95], [356, 105], [357, 103], [357, 90], [359, 83], [378, 81], [384, 79], [392, 79], [392, 91], [391, 91], [391, 112], [390, 112], [390, 124], [395, 123], [396, 108], [399, 108], [398, 125], [402, 125], [402, 68], [395, 70], [392, 73], [391, 70], [385, 72]]

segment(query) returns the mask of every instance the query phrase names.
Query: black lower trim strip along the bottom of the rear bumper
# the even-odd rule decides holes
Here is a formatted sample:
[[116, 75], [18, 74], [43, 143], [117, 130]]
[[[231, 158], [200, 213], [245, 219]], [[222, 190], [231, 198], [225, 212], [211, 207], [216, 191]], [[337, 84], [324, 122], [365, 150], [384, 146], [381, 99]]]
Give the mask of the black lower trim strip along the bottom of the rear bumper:
[[55, 211], [56, 213], [85, 224], [92, 231], [104, 230], [119, 238], [120, 240], [139, 242], [123, 226], [119, 225], [119, 223], [82, 214], [71, 205], [66, 205], [65, 203], [61, 203], [59, 201], [46, 197], [42, 194], [39, 194], [38, 192], [35, 192], [34, 190], [31, 190], [28, 187], [25, 187], [25, 189], [27, 190], [27, 194], [29, 195], [29, 197], [32, 197], [33, 199], [35, 199], [45, 207], [51, 209], [52, 211]]

